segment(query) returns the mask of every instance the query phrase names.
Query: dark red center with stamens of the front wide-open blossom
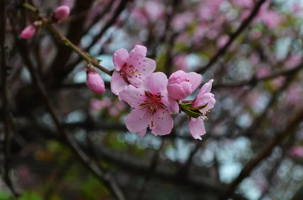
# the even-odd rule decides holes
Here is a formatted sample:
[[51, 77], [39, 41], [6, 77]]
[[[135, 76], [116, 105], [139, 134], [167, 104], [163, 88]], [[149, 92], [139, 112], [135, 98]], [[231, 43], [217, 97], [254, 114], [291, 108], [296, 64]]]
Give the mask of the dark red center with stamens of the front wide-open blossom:
[[163, 97], [160, 92], [152, 94], [151, 92], [145, 91], [146, 100], [140, 105], [142, 110], [149, 109], [150, 116], [153, 116], [158, 110], [167, 110], [166, 105], [161, 101]]

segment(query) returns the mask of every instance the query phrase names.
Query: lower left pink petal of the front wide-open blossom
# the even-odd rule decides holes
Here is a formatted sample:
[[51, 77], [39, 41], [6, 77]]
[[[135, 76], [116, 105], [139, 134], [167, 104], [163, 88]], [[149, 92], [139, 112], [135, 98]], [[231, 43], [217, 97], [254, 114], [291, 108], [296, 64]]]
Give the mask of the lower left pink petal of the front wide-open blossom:
[[131, 132], [138, 132], [146, 128], [150, 124], [150, 113], [148, 109], [142, 110], [141, 108], [132, 110], [126, 117], [126, 127]]

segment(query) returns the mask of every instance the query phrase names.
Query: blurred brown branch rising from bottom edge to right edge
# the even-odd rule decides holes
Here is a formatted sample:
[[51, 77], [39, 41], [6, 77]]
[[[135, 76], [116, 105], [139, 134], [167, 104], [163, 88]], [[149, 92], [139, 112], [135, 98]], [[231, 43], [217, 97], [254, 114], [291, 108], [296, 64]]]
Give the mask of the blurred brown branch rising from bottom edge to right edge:
[[263, 159], [271, 154], [273, 148], [279, 145], [289, 134], [293, 134], [295, 132], [297, 125], [302, 121], [302, 119], [303, 110], [299, 110], [295, 117], [293, 117], [287, 124], [285, 129], [279, 132], [271, 141], [269, 141], [256, 158], [252, 159], [245, 165], [239, 176], [229, 185], [227, 192], [225, 192], [219, 198], [219, 200], [227, 200], [229, 196], [233, 194], [236, 187], [242, 182], [242, 180], [246, 178]]

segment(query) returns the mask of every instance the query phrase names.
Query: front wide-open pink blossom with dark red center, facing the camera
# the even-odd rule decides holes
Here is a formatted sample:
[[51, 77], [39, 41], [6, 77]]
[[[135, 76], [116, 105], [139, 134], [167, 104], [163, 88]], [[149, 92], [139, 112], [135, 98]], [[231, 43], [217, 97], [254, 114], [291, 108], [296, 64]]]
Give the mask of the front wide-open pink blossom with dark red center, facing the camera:
[[149, 127], [155, 136], [170, 134], [173, 118], [170, 116], [167, 83], [166, 75], [156, 72], [145, 80], [141, 88], [129, 85], [119, 92], [119, 99], [133, 108], [126, 118], [129, 131], [139, 132], [139, 136], [143, 137]]

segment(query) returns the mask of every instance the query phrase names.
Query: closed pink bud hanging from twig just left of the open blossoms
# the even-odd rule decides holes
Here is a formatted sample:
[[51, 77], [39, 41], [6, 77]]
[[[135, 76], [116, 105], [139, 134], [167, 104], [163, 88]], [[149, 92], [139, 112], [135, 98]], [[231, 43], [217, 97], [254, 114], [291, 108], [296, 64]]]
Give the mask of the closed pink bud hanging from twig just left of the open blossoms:
[[86, 86], [91, 92], [101, 94], [105, 91], [104, 81], [94, 69], [88, 68], [86, 75]]

